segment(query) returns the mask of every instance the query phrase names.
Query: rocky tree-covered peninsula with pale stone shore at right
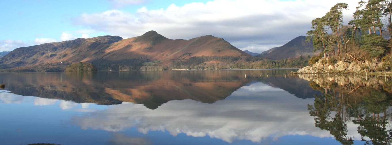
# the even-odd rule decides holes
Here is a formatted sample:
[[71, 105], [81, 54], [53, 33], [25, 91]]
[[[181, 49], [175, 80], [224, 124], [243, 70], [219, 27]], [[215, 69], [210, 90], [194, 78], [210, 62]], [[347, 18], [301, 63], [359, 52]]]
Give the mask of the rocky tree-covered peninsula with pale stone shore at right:
[[[321, 18], [312, 20], [307, 41], [313, 51], [321, 51], [309, 59], [309, 65], [298, 74], [311, 73], [370, 73], [391, 70], [392, 5], [384, 3], [358, 3], [353, 20], [343, 23], [346, 3], [338, 3]], [[387, 31], [383, 17], [387, 17]]]

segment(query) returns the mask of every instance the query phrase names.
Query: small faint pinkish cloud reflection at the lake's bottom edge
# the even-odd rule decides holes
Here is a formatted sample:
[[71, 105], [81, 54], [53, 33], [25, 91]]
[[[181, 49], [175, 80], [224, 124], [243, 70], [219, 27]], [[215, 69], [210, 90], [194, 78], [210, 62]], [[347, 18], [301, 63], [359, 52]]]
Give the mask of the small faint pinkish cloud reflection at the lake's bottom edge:
[[147, 138], [125, 136], [125, 134], [115, 133], [113, 139], [107, 143], [109, 145], [152, 145]]

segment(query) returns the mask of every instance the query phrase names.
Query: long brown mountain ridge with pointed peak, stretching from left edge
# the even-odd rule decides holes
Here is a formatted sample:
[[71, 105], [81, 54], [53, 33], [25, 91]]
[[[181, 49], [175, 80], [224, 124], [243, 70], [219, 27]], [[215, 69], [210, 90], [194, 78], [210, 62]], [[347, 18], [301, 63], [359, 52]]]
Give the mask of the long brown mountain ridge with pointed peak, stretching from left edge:
[[0, 68], [45, 66], [64, 69], [73, 62], [89, 62], [98, 70], [132, 70], [140, 66], [168, 66], [201, 56], [250, 57], [224, 39], [212, 35], [173, 40], [149, 31], [128, 39], [106, 35], [16, 48], [0, 60]]

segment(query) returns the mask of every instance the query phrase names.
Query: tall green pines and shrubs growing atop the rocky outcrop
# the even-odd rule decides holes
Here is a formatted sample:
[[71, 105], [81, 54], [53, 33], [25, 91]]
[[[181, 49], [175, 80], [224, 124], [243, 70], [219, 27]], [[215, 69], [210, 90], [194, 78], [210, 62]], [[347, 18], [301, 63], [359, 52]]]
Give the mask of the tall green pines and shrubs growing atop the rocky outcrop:
[[[307, 41], [312, 41], [315, 50], [322, 50], [324, 57], [327, 55], [345, 62], [357, 61], [363, 64], [366, 61], [388, 62], [391, 53], [390, 34], [383, 35], [383, 16], [387, 17], [387, 30], [392, 32], [392, 1], [368, 0], [360, 1], [356, 7], [353, 20], [343, 26], [342, 11], [347, 9], [347, 4], [338, 3], [321, 18], [312, 20], [312, 30], [308, 31]], [[332, 33], [330, 33], [332, 32]], [[321, 55], [321, 54], [320, 54]], [[309, 60], [314, 64], [316, 57]], [[385, 66], [387, 65], [387, 66]], [[383, 68], [390, 68], [390, 64], [383, 64]], [[379, 69], [380, 70], [380, 69]], [[385, 70], [385, 69], [382, 69]], [[376, 70], [370, 70], [376, 71]]]

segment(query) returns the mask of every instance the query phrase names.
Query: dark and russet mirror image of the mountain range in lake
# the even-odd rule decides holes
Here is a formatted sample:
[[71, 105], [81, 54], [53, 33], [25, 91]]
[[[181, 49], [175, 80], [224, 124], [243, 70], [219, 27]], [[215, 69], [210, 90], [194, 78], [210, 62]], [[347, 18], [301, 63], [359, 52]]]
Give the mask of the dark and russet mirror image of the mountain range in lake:
[[[279, 77], [266, 77], [275, 74]], [[150, 109], [170, 100], [214, 103], [252, 81], [283, 88], [302, 98], [318, 92], [301, 87], [307, 81], [283, 78], [284, 74], [287, 70], [2, 73], [0, 82], [18, 95], [105, 105], [132, 102]]]

